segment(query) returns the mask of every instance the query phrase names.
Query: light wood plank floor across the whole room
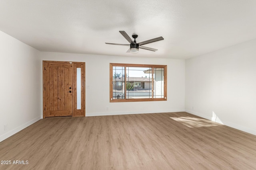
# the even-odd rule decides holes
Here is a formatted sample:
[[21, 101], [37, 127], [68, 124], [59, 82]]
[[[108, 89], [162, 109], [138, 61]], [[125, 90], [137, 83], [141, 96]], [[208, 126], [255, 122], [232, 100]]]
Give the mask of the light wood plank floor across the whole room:
[[256, 136], [186, 112], [46, 118], [0, 143], [0, 169], [255, 170]]

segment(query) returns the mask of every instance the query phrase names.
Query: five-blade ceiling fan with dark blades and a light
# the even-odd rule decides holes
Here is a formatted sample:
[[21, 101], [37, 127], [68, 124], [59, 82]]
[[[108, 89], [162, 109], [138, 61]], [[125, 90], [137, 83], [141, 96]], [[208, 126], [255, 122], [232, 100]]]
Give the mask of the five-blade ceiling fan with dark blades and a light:
[[153, 43], [156, 41], [160, 41], [163, 40], [163, 37], [157, 37], [157, 38], [153, 38], [153, 39], [149, 39], [147, 41], [143, 41], [140, 43], [136, 42], [136, 38], [138, 37], [138, 35], [134, 34], [132, 35], [132, 38], [134, 38], [134, 41], [132, 41], [132, 39], [129, 37], [129, 35], [125, 32], [125, 31], [119, 31], [124, 38], [130, 43], [130, 44], [115, 44], [115, 43], [106, 43], [106, 44], [112, 44], [112, 45], [130, 45], [130, 49], [128, 49], [127, 53], [131, 52], [131, 53], [138, 53], [139, 52], [139, 48], [141, 49], [145, 49], [145, 50], [150, 50], [150, 51], [157, 51], [158, 49], [153, 49], [150, 47], [145, 47], [142, 46], [144, 44], [148, 44], [148, 43]]

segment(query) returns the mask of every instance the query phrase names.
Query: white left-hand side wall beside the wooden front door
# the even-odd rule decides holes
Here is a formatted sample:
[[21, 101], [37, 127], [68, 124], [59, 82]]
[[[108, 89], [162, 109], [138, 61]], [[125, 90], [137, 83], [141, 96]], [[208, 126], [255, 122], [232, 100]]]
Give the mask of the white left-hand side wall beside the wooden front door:
[[38, 53], [0, 31], [0, 141], [41, 118]]

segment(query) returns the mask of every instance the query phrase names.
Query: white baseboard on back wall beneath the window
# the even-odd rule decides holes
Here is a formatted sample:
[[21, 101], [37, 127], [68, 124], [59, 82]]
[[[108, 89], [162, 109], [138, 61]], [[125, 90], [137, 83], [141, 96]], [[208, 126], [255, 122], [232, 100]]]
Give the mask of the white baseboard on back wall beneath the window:
[[144, 110], [144, 111], [117, 111], [117, 112], [99, 112], [99, 113], [85, 113], [85, 116], [108, 116], [108, 115], [131, 115], [131, 114], [145, 114], [145, 113], [167, 113], [167, 112], [180, 112], [184, 109], [173, 109], [173, 110]]

